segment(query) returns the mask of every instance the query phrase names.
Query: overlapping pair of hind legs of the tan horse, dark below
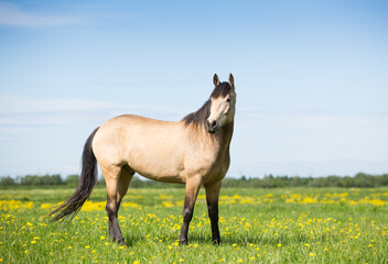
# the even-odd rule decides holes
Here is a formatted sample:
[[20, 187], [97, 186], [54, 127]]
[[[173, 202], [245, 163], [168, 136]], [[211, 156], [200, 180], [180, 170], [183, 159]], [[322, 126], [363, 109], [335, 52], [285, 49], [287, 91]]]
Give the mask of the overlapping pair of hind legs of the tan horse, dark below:
[[[122, 197], [126, 195], [132, 178], [125, 168], [119, 166], [103, 167], [103, 175], [107, 187], [107, 212], [109, 218], [109, 235], [119, 244], [126, 244], [117, 221], [117, 212]], [[132, 174], [133, 175], [133, 174]]]

